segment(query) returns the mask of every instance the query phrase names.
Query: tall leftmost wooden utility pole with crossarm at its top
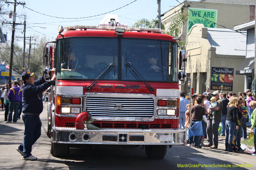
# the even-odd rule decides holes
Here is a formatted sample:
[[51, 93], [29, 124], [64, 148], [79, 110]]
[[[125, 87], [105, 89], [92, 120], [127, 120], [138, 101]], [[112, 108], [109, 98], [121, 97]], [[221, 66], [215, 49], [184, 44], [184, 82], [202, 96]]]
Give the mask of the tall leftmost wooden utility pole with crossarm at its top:
[[13, 58], [13, 51], [14, 51], [14, 31], [15, 31], [15, 21], [16, 21], [16, 4], [17, 5], [26, 5], [25, 3], [16, 3], [16, 0], [13, 2], [7, 2], [8, 4], [14, 4], [14, 10], [12, 15], [12, 41], [11, 41], [11, 55], [10, 55], [10, 69], [9, 69], [9, 83], [12, 83], [12, 58]]

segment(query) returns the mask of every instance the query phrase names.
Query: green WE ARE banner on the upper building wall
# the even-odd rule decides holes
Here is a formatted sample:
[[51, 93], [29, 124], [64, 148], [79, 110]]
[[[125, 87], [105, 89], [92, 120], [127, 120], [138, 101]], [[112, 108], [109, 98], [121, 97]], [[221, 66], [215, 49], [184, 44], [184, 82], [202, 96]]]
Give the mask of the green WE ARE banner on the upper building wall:
[[[188, 27], [187, 27], [188, 33], [191, 27], [195, 24], [204, 24], [204, 27], [206, 28], [216, 28], [216, 24], [214, 23], [217, 23], [218, 10], [202, 9], [202, 8], [189, 8], [189, 9], [194, 11], [195, 13], [189, 10]], [[199, 15], [204, 18], [207, 18], [210, 21], [200, 17]]]

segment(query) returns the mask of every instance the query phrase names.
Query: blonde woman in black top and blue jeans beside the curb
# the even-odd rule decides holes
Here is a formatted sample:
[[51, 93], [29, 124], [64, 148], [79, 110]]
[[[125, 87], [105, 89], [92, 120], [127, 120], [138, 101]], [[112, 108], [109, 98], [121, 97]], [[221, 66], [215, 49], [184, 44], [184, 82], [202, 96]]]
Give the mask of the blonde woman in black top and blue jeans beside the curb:
[[226, 119], [226, 141], [225, 141], [225, 146], [226, 149], [225, 151], [228, 152], [235, 152], [232, 148], [232, 142], [234, 138], [234, 131], [235, 129], [238, 129], [238, 122], [237, 122], [237, 105], [238, 104], [238, 98], [233, 97], [229, 101], [229, 105], [227, 108], [227, 119]]

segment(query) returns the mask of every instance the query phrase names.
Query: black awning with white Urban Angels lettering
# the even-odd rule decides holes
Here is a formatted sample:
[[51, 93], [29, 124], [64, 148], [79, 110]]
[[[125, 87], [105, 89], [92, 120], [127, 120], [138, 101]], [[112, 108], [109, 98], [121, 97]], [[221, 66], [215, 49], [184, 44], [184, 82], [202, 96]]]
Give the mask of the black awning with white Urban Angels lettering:
[[236, 75], [254, 73], [254, 61], [254, 57], [245, 58], [243, 63], [236, 70]]

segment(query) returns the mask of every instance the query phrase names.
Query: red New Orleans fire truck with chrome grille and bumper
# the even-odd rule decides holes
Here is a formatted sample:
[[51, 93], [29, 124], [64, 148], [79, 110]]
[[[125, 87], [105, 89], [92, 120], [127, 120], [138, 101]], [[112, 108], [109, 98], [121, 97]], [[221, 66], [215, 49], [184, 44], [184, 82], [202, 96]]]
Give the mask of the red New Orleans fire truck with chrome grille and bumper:
[[51, 154], [68, 156], [79, 145], [142, 145], [149, 158], [162, 159], [167, 146], [186, 140], [179, 129], [186, 49], [178, 52], [176, 41], [185, 36], [104, 19], [99, 26], [59, 26], [56, 41], [45, 44], [45, 76], [56, 68], [48, 102]]

